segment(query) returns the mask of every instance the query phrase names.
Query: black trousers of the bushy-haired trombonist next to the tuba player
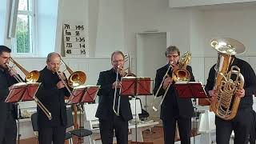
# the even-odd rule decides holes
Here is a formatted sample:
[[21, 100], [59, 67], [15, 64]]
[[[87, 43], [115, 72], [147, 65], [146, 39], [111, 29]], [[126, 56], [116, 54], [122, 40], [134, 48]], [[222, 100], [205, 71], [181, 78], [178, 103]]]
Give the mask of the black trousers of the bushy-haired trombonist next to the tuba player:
[[165, 144], [174, 144], [176, 122], [181, 144], [190, 144], [191, 118], [172, 118], [168, 121], [162, 120]]

